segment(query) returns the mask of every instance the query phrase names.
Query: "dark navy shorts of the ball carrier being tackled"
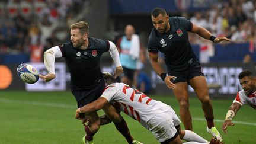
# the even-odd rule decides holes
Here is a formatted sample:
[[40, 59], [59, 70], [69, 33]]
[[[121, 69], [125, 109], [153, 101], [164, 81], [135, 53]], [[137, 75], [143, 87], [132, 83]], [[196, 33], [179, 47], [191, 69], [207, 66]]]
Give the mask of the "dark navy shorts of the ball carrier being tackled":
[[78, 108], [97, 100], [105, 89], [105, 80], [101, 79], [98, 84], [92, 89], [72, 89], [72, 94], [76, 98]]

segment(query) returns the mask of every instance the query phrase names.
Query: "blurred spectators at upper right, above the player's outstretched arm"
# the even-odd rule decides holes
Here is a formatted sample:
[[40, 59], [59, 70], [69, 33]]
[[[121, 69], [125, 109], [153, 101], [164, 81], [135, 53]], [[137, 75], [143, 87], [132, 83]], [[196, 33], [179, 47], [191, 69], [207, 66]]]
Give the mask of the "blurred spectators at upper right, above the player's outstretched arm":
[[[207, 28], [215, 36], [228, 37], [234, 43], [256, 41], [255, 1], [219, 1], [209, 11], [194, 12], [190, 21]], [[190, 37], [191, 43], [200, 43], [197, 38]]]

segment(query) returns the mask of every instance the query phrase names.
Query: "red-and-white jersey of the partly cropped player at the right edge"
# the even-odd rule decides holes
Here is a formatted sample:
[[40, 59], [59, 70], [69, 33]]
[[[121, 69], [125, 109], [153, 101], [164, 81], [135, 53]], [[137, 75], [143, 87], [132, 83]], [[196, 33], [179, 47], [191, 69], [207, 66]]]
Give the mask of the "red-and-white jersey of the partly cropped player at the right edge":
[[247, 95], [244, 90], [239, 91], [236, 94], [235, 100], [233, 100], [233, 103], [235, 102], [241, 105], [248, 104], [251, 107], [256, 107], [256, 91], [249, 95]]

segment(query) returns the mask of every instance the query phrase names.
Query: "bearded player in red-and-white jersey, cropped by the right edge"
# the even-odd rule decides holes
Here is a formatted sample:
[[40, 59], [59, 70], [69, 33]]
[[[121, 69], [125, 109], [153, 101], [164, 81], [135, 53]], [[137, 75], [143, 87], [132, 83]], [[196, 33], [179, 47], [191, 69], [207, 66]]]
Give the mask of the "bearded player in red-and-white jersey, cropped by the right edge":
[[231, 107], [229, 107], [228, 112], [226, 113], [226, 118], [222, 124], [222, 130], [226, 133], [228, 126], [234, 126], [231, 121], [235, 117], [238, 110], [242, 105], [249, 105], [252, 108], [256, 109], [256, 78], [252, 75], [252, 72], [248, 69], [245, 69], [238, 75], [240, 84], [242, 86], [242, 91], [239, 91], [236, 95], [235, 100]]

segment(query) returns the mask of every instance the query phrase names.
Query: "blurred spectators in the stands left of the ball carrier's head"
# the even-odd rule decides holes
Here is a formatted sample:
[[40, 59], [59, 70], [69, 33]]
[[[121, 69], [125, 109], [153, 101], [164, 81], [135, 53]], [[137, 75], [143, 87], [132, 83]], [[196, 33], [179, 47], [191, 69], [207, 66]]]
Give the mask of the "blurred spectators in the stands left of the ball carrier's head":
[[81, 0], [0, 1], [0, 53], [42, 53], [69, 40], [69, 25], [77, 21], [73, 15], [87, 5]]

